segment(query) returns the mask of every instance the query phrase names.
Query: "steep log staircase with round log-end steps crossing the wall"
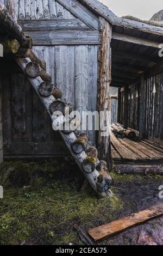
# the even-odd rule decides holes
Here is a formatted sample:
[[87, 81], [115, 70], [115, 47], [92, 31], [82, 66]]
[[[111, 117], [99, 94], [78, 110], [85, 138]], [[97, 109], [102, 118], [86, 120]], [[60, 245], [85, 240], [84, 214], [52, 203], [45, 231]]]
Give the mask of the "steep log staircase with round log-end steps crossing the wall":
[[[17, 25], [15, 17], [12, 17], [8, 13], [7, 8], [2, 4], [0, 4], [0, 23], [10, 38], [17, 40], [20, 45], [16, 50], [15, 60], [24, 72], [24, 75], [26, 75], [29, 83], [33, 86], [36, 94], [39, 96], [53, 124], [60, 126], [63, 124], [64, 118], [62, 118], [62, 116], [55, 118], [53, 113], [60, 111], [62, 115], [64, 115], [65, 107], [67, 107], [69, 113], [71, 113], [72, 107], [61, 100], [61, 91], [53, 86], [51, 76], [46, 73], [41, 60], [38, 59], [32, 51], [32, 39], [23, 33], [22, 28]], [[70, 122], [72, 120], [69, 118], [64, 121]], [[76, 124], [77, 129], [80, 125], [80, 121], [75, 119], [74, 124]], [[59, 133], [93, 190], [101, 197], [112, 196], [110, 190], [111, 178], [106, 172], [107, 164], [103, 163], [103, 167], [99, 166], [98, 172], [96, 169], [100, 163], [98, 160], [98, 151], [96, 148], [89, 147], [89, 138], [86, 135], [77, 137], [76, 133], [71, 129], [68, 131], [66, 129], [64, 131], [59, 130]], [[105, 172], [103, 172], [104, 169]]]

